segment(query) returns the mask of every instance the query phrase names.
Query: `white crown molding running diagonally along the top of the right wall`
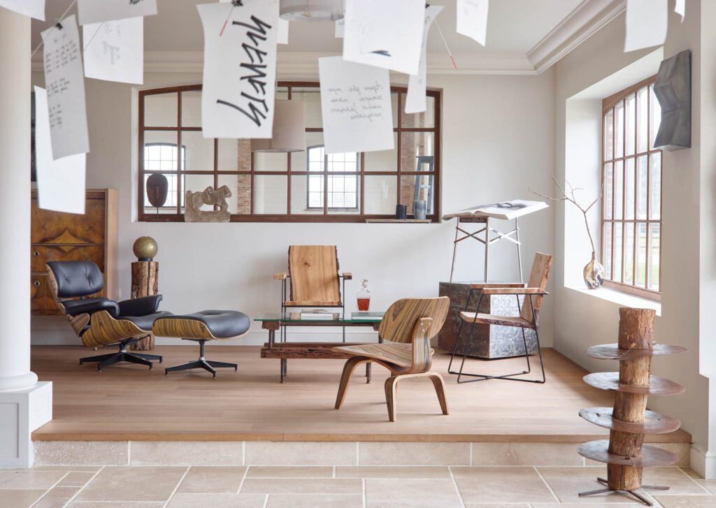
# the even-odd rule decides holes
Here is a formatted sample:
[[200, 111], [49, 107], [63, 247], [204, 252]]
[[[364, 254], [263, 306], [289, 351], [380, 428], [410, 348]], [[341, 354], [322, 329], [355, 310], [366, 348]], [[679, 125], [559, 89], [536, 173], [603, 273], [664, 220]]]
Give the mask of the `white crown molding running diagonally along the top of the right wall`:
[[527, 52], [529, 62], [541, 74], [626, 9], [627, 0], [582, 1]]

